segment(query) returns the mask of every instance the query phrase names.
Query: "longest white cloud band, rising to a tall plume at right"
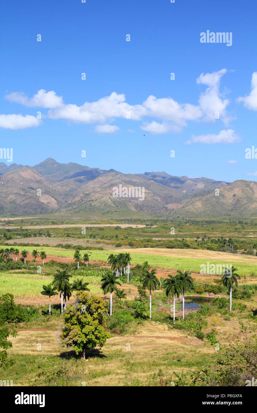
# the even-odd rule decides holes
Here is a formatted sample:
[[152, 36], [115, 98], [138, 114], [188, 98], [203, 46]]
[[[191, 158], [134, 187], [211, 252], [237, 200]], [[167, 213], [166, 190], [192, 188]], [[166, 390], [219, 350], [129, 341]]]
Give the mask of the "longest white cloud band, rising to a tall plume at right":
[[[46, 92], [41, 89], [31, 99], [24, 93], [10, 93], [6, 98], [11, 102], [24, 104], [25, 106], [47, 107], [47, 116], [51, 119], [66, 119], [76, 123], [112, 123], [117, 118], [131, 119], [133, 121], [152, 118], [144, 123], [141, 128], [150, 133], [162, 134], [169, 132], [181, 132], [189, 121], [215, 122], [215, 112], [219, 112], [219, 118], [228, 123], [226, 107], [229, 100], [222, 99], [219, 93], [219, 83], [226, 69], [217, 72], [201, 74], [196, 82], [207, 85], [205, 92], [200, 94], [197, 105], [191, 103], [179, 103], [172, 97], [157, 98], [153, 95], [141, 104], [130, 105], [126, 102], [124, 94], [116, 92], [105, 96], [96, 102], [85, 102], [81, 106], [76, 104], [64, 104], [63, 98], [57, 96], [52, 90]], [[97, 129], [98, 127], [96, 127]]]

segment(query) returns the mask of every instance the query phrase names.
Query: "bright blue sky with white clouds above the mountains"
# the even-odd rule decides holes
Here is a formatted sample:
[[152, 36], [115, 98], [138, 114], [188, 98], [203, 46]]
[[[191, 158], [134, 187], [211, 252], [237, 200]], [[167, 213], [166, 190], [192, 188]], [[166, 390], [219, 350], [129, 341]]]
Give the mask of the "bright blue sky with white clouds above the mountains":
[[[257, 148], [256, 2], [0, 7], [0, 146], [13, 162], [256, 180], [257, 159], [245, 159]], [[200, 43], [207, 30], [232, 45]]]

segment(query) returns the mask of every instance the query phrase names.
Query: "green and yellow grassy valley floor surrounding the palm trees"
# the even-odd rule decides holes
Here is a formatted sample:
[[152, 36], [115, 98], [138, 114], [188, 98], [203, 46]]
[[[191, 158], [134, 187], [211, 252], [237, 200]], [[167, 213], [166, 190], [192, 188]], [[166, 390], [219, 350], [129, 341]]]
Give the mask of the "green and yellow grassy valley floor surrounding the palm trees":
[[[35, 221], [35, 218], [31, 218], [32, 220]], [[20, 224], [19, 221], [17, 226]], [[26, 222], [22, 222], [22, 225], [25, 224]], [[156, 222], [152, 224], [156, 225]], [[193, 238], [203, 231], [195, 232], [196, 223], [183, 225], [182, 234], [186, 235], [186, 230], [189, 229], [194, 246], [196, 241]], [[218, 226], [216, 223], [208, 225]], [[228, 224], [232, 234], [235, 225], [238, 223]], [[243, 225], [247, 227], [247, 224]], [[75, 231], [78, 231], [78, 228], [50, 228], [51, 237], [35, 237], [35, 241], [42, 240], [40, 246], [36, 242], [36, 245], [30, 245], [33, 244], [33, 238], [14, 239], [13, 242], [9, 240], [9, 245], [2, 242], [0, 249], [13, 245], [19, 252], [26, 249], [29, 254], [26, 268], [9, 269], [8, 263], [0, 268], [0, 295], [13, 294], [15, 303], [21, 304], [28, 312], [28, 319], [17, 325], [17, 336], [9, 337], [12, 347], [7, 352], [9, 357], [14, 358], [15, 364], [3, 373], [4, 376], [13, 380], [14, 386], [55, 386], [51, 377], [57, 370], [60, 372], [58, 386], [170, 386], [170, 383], [175, 386], [204, 385], [201, 381], [194, 381], [193, 375], [197, 375], [197, 372], [206, 366], [215, 366], [219, 354], [230, 345], [237, 345], [238, 340], [244, 343], [246, 330], [250, 337], [256, 331], [257, 257], [252, 253], [242, 253], [243, 249], [238, 249], [236, 253], [231, 249], [207, 250], [205, 241], [199, 245], [196, 243], [193, 248], [178, 248], [178, 245], [175, 248], [156, 247], [154, 243], [149, 246], [148, 242], [140, 241], [146, 240], [146, 235], [152, 234], [152, 238], [153, 235], [156, 238], [163, 235], [167, 228], [160, 223], [155, 228], [106, 228], [93, 228], [91, 231], [93, 235], [95, 232], [96, 237], [85, 240], [82, 246], [80, 239], [76, 237]], [[250, 228], [241, 230], [248, 252]], [[62, 246], [58, 246], [61, 235], [66, 235], [67, 231], [71, 231], [72, 236], [64, 237]], [[128, 239], [133, 237], [134, 244], [138, 242], [137, 248], [129, 247], [126, 238], [121, 246], [115, 247], [112, 240], [103, 240], [99, 236], [101, 233], [107, 238], [114, 238], [117, 232], [118, 241], [123, 241], [123, 236], [130, 236]], [[73, 245], [80, 245], [82, 256], [84, 253], [90, 255], [88, 268], [85, 263], [80, 263], [79, 270], [75, 268], [73, 245], [63, 247], [71, 240]], [[25, 245], [19, 245], [20, 241]], [[111, 244], [108, 244], [109, 242]], [[117, 242], [117, 239], [114, 242]], [[47, 246], [47, 243], [51, 243], [51, 246]], [[99, 245], [107, 249], [93, 249]], [[34, 249], [38, 252], [43, 250], [47, 254], [44, 266], [40, 258], [36, 259], [34, 266], [31, 257]], [[60, 344], [64, 316], [60, 313], [59, 293], [51, 297], [52, 315], [49, 316], [49, 301], [48, 297], [41, 294], [42, 287], [52, 282], [57, 270], [67, 269], [71, 274], [70, 282], [82, 278], [83, 282], [88, 283], [90, 294], [102, 297], [109, 311], [110, 294], [104, 294], [101, 289], [102, 271], [106, 271], [104, 268], [108, 266], [110, 254], [124, 252], [130, 253], [132, 275], [129, 283], [126, 282], [126, 277], [120, 279], [121, 285], [118, 288], [124, 290], [125, 297], [119, 299], [116, 293], [113, 294], [113, 314], [106, 318], [106, 328], [111, 337], [102, 348], [86, 351], [86, 360], [81, 360], [72, 347], [67, 348]], [[19, 258], [20, 254], [18, 260]], [[145, 261], [148, 261], [151, 269], [156, 269], [161, 282], [158, 290], [152, 291], [152, 320], [149, 318], [149, 291], [146, 290], [141, 315], [134, 307], [136, 302], [142, 301], [139, 295], [140, 271]], [[233, 287], [231, 312], [228, 290], [217, 283], [220, 276], [200, 275], [200, 266], [207, 261], [215, 265], [233, 264], [237, 268], [241, 279], [238, 280], [238, 288]], [[38, 265], [41, 272], [38, 272]], [[163, 280], [169, 273], [175, 275], [179, 269], [192, 273], [193, 287], [186, 292], [185, 302], [189, 307], [185, 308], [184, 320], [182, 297], [176, 297], [176, 318], [173, 324], [172, 300], [165, 295]], [[69, 301], [71, 304], [75, 297], [74, 291]], [[194, 297], [207, 297], [207, 301], [198, 309], [192, 310], [190, 303], [194, 303]], [[3, 374], [0, 370], [0, 380]]]

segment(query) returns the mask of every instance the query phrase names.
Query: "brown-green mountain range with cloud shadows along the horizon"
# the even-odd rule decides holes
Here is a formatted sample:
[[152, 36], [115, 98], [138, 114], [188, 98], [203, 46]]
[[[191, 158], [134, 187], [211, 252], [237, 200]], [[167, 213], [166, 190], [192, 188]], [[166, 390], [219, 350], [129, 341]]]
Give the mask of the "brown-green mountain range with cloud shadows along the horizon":
[[[144, 200], [113, 197], [113, 188], [119, 185], [144, 187]], [[166, 172], [124, 174], [73, 162], [61, 164], [52, 158], [33, 167], [0, 162], [1, 216], [57, 212], [88, 216], [118, 213], [124, 218], [253, 216], [257, 215], [257, 183]]]

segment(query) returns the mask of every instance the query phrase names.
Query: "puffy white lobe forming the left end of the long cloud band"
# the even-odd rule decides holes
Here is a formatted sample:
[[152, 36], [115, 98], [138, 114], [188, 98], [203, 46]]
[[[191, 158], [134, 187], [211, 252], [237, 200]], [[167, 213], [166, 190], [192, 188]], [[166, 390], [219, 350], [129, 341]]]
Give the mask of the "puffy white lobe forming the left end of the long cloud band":
[[33, 95], [31, 99], [25, 93], [19, 92], [12, 92], [5, 98], [10, 102], [20, 103], [27, 107], [56, 108], [63, 104], [62, 96], [57, 96], [53, 90], [47, 92], [44, 89], [38, 90], [38, 93]]

